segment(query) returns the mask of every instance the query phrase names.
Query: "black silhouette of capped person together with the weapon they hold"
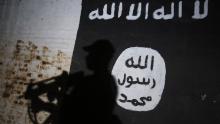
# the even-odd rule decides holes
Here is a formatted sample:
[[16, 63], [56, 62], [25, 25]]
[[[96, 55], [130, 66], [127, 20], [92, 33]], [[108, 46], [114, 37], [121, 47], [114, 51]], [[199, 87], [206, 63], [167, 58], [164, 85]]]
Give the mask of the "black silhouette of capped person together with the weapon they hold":
[[[28, 113], [34, 124], [39, 123], [36, 115], [40, 111], [50, 113], [43, 124], [121, 123], [113, 114], [117, 87], [107, 69], [113, 46], [108, 40], [97, 40], [84, 50], [88, 52], [86, 64], [92, 75], [63, 72], [58, 77], [29, 84], [25, 98], [30, 100]], [[46, 101], [40, 98], [42, 94]]]

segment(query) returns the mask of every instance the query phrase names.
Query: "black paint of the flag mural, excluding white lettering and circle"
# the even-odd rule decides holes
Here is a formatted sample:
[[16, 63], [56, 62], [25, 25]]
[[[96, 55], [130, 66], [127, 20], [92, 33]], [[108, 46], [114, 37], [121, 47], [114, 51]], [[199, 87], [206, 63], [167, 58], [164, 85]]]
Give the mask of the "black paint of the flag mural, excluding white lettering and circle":
[[[202, 1], [202, 0], [201, 0]], [[110, 6], [123, 2], [121, 18], [89, 20], [91, 11], [104, 4]], [[135, 21], [125, 19], [131, 3], [149, 2], [149, 17], [144, 13]], [[220, 53], [218, 35], [218, 4], [209, 0], [209, 14], [205, 19], [192, 19], [194, 0], [183, 0], [183, 17], [171, 20], [155, 20], [153, 10], [165, 6], [169, 13], [171, 2], [177, 0], [83, 0], [82, 13], [76, 44], [73, 52], [71, 73], [83, 70], [86, 52], [82, 47], [96, 40], [109, 40], [115, 54], [114, 62], [128, 47], [149, 47], [157, 50], [166, 63], [166, 81], [162, 99], [158, 106], [148, 112], [133, 112], [119, 106], [115, 113], [123, 124], [218, 124], [220, 123]], [[201, 2], [203, 5], [203, 2]], [[166, 7], [168, 7], [166, 9]], [[142, 8], [144, 9], [144, 8]], [[116, 9], [117, 10], [117, 9]], [[105, 51], [103, 51], [105, 52]], [[92, 96], [91, 96], [92, 97]], [[101, 103], [100, 103], [101, 104]], [[101, 113], [100, 113], [101, 114]]]

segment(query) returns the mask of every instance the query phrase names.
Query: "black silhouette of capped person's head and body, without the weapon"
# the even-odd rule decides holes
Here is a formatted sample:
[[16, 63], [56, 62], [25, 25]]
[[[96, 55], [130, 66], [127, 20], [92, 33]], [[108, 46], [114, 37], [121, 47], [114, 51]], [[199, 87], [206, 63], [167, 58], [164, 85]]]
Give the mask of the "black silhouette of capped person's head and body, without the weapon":
[[108, 40], [98, 40], [84, 47], [88, 52], [86, 65], [93, 72], [84, 75], [78, 72], [70, 75], [73, 87], [67, 89], [67, 96], [61, 107], [62, 124], [118, 124], [113, 114], [117, 88], [108, 70], [114, 48]]

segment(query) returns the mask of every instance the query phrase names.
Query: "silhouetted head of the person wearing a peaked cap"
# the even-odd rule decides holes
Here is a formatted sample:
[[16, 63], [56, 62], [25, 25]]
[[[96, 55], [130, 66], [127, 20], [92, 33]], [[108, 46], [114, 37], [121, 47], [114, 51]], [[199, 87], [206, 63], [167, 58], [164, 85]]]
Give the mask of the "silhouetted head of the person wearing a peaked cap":
[[95, 72], [105, 71], [114, 53], [112, 44], [104, 39], [84, 47], [84, 50], [88, 52], [86, 56], [87, 67]]

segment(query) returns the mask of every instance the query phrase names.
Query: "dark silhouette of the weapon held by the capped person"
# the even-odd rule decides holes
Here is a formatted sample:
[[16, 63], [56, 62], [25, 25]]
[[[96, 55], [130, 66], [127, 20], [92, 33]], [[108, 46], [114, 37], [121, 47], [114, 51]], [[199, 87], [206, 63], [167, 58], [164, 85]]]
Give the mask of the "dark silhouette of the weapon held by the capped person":
[[[52, 77], [36, 83], [30, 82], [23, 96], [29, 100], [28, 116], [34, 124], [39, 124], [37, 113], [46, 111], [50, 115], [42, 124], [56, 123], [61, 101], [66, 93], [68, 86], [68, 73], [63, 72], [61, 75]], [[40, 96], [47, 100], [43, 100]]]

